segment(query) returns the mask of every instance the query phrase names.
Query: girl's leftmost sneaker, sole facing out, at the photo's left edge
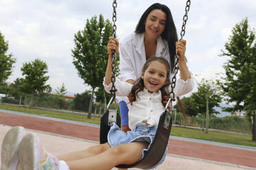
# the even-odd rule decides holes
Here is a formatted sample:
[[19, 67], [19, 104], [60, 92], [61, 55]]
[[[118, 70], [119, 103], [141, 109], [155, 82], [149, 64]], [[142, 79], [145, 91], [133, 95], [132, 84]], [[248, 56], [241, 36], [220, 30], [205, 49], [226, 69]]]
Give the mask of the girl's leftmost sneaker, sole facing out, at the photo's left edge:
[[12, 127], [4, 136], [1, 148], [1, 170], [17, 169], [18, 149], [23, 136], [25, 136], [25, 131], [21, 126]]

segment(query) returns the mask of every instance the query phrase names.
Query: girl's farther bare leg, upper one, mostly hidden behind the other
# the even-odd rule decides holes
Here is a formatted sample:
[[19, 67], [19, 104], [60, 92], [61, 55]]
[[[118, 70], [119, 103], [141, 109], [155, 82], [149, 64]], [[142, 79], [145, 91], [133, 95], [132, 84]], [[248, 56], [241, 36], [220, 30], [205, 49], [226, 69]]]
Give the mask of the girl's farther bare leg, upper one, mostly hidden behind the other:
[[57, 158], [58, 160], [64, 160], [65, 162], [72, 161], [72, 160], [79, 160], [79, 159], [87, 158], [89, 156], [101, 154], [103, 151], [106, 151], [107, 149], [109, 149], [109, 147], [110, 147], [109, 143], [104, 143], [101, 145], [89, 147], [88, 149], [85, 149], [83, 151], [75, 151], [69, 154], [63, 154], [61, 156], [57, 156]]

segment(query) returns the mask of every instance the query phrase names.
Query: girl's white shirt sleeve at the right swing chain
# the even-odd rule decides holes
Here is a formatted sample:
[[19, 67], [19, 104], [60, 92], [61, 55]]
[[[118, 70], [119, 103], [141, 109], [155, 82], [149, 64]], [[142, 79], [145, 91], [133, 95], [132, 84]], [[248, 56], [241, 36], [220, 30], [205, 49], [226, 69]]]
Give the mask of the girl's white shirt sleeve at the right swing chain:
[[[182, 80], [181, 78], [175, 84], [175, 88], [173, 90], [175, 97], [186, 95], [187, 93], [191, 92], [194, 87], [194, 80], [193, 75], [190, 73], [191, 78], [189, 80]], [[171, 91], [171, 86], [169, 86], [169, 91]]]

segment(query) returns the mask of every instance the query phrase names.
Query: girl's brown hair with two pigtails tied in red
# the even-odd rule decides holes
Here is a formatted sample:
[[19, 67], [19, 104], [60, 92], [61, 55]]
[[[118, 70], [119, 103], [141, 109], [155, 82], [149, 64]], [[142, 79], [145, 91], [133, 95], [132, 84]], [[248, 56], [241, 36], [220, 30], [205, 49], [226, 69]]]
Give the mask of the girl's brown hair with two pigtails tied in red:
[[[167, 104], [167, 101], [169, 99], [169, 90], [168, 88], [166, 88], [169, 84], [171, 84], [170, 82], [170, 64], [167, 60], [165, 60], [164, 58], [157, 58], [157, 57], [151, 57], [147, 60], [147, 62], [145, 62], [145, 64], [143, 65], [142, 68], [142, 73], [145, 73], [145, 71], [147, 70], [147, 68], [149, 67], [149, 64], [153, 61], [159, 61], [160, 63], [164, 64], [166, 69], [167, 69], [167, 80], [165, 81], [164, 86], [162, 86], [162, 88], [160, 88], [161, 90], [161, 94], [162, 94], [162, 104], [165, 106], [165, 104]], [[137, 97], [138, 97], [138, 93], [140, 91], [142, 91], [144, 89], [144, 82], [142, 80], [142, 78], [140, 77], [138, 80], [136, 80], [136, 82], [134, 82], [134, 85], [131, 88], [131, 93], [129, 94], [128, 98], [129, 101], [132, 104], [132, 101], [136, 101]]]

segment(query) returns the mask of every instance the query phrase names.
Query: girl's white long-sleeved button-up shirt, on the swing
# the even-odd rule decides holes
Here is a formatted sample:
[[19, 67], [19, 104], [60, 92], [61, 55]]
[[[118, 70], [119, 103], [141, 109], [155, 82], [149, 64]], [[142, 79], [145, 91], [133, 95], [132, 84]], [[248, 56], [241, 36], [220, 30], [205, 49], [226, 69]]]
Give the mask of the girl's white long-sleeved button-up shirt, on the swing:
[[[178, 84], [179, 86], [177, 86]], [[112, 84], [106, 85], [105, 82], [103, 82], [103, 85], [105, 86], [107, 93], [109, 93]], [[193, 90], [194, 86], [192, 76], [191, 79], [186, 80], [186, 82], [179, 79], [177, 85], [174, 88], [175, 97], [189, 93]], [[133, 85], [116, 79], [115, 86], [117, 89], [116, 95], [128, 96]], [[171, 91], [171, 86], [169, 86], [169, 91]], [[155, 93], [149, 93], [149, 91], [144, 88], [144, 90], [140, 91], [138, 97], [136, 97], [136, 101], [133, 101], [129, 108], [128, 116], [130, 129], [132, 130], [138, 125], [145, 125], [142, 121], [147, 121], [151, 127], [157, 126], [160, 115], [164, 112], [164, 106], [162, 105], [161, 100], [160, 90]]]

